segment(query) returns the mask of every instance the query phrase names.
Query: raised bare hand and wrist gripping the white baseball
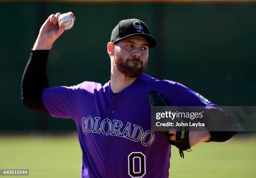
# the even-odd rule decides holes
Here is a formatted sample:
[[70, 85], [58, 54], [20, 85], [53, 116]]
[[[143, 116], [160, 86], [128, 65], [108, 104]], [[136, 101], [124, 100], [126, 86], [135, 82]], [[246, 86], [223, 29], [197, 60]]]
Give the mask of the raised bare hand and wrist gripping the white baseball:
[[[74, 20], [76, 20], [72, 12], [69, 12], [68, 14], [71, 15]], [[61, 13], [56, 13], [55, 15], [52, 14], [49, 16], [49, 18], [47, 18], [40, 28], [33, 50], [50, 50], [54, 41], [65, 31], [63, 26], [64, 22], [58, 24], [60, 15]]]

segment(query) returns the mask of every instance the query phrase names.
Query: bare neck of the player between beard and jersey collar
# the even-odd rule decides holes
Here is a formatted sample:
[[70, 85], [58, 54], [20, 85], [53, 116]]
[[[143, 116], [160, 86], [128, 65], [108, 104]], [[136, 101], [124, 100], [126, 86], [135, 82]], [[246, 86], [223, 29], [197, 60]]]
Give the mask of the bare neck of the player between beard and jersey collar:
[[131, 85], [134, 81], [136, 81], [137, 77], [125, 76], [119, 71], [111, 71], [110, 79], [111, 79], [110, 87], [112, 92], [119, 93], [123, 89]]

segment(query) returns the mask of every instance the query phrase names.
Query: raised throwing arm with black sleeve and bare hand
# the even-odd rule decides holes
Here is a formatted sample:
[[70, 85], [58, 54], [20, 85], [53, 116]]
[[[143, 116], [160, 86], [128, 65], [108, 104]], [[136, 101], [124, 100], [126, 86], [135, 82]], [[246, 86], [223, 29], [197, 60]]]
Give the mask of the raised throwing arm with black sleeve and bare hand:
[[[45, 114], [49, 114], [42, 101], [43, 91], [49, 87], [47, 59], [54, 41], [65, 31], [64, 22], [58, 24], [60, 15], [60, 13], [50, 15], [41, 26], [21, 81], [23, 104], [29, 109]], [[69, 12], [69, 15], [75, 20], [73, 13]]]

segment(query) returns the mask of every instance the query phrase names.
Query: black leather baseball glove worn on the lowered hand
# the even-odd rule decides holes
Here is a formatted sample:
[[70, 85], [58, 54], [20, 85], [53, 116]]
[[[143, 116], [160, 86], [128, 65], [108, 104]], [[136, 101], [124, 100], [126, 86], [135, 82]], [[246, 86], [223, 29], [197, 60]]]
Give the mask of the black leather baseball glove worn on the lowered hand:
[[[153, 106], [171, 106], [169, 102], [164, 98], [164, 95], [159, 94], [157, 90], [153, 90], [148, 94], [148, 102], [151, 107]], [[181, 120], [181, 122], [183, 122]], [[166, 140], [171, 144], [176, 146], [179, 149], [180, 157], [184, 158], [183, 151], [191, 151], [191, 147], [189, 146], [189, 127], [179, 127], [176, 131], [176, 140], [171, 141], [169, 139], [172, 134], [169, 134], [167, 131], [161, 131], [161, 135], [163, 135]]]

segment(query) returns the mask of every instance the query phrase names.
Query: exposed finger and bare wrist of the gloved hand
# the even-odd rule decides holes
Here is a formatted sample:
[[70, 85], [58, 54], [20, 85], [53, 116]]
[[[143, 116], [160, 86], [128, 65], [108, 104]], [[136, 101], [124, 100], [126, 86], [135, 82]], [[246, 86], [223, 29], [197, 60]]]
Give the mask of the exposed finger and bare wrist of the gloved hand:
[[[193, 147], [200, 142], [207, 142], [210, 140], [211, 135], [210, 132], [205, 127], [197, 127], [198, 131], [189, 131], [189, 145]], [[176, 140], [176, 130], [170, 129], [169, 134], [172, 136], [169, 137], [169, 140], [175, 141]]]

